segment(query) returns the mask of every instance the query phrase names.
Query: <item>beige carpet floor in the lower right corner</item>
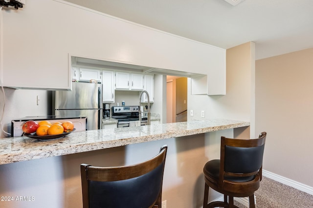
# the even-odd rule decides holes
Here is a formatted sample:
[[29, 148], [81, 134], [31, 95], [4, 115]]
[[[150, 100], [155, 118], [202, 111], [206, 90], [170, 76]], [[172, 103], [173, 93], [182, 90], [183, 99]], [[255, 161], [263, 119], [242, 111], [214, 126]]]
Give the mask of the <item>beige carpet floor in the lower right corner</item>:
[[[313, 195], [263, 177], [255, 192], [256, 208], [313, 208]], [[240, 208], [245, 206], [235, 203]]]

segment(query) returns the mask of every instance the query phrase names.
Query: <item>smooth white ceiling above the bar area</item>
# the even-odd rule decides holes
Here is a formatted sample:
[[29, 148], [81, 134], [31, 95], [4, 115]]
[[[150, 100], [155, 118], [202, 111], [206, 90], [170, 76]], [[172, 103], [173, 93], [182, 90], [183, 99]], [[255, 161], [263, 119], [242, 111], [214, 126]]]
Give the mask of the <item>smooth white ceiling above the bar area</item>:
[[228, 49], [256, 43], [256, 59], [313, 47], [313, 0], [67, 0]]

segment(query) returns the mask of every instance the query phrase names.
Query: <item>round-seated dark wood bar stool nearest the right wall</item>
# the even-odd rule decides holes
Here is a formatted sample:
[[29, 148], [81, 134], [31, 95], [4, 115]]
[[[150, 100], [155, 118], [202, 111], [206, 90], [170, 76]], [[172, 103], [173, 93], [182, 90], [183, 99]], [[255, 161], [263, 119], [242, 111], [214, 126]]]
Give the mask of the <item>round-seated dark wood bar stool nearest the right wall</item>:
[[[221, 138], [221, 158], [204, 165], [203, 208], [238, 208], [234, 197], [249, 197], [250, 208], [255, 208], [254, 192], [262, 180], [263, 153], [266, 132], [257, 139]], [[224, 194], [224, 202], [208, 204], [209, 187]], [[227, 199], [228, 198], [228, 199]]]

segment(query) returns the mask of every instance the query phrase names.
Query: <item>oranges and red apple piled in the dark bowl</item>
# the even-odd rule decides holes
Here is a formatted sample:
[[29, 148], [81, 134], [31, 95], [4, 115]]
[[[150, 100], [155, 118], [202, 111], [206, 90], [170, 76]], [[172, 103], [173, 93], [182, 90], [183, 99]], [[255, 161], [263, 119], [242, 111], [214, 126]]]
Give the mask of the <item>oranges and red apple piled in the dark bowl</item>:
[[24, 133], [36, 132], [37, 136], [61, 134], [63, 132], [71, 132], [73, 129], [74, 124], [71, 121], [65, 121], [63, 123], [55, 122], [51, 124], [51, 122], [46, 120], [38, 123], [30, 120], [26, 121], [22, 126], [22, 131]]

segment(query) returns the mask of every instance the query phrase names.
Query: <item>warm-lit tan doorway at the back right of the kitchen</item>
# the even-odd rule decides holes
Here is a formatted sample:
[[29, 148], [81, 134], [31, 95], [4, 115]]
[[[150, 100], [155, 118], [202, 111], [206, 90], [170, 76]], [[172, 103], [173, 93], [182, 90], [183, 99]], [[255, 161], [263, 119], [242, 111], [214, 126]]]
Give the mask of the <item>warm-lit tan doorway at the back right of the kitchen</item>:
[[187, 121], [187, 77], [166, 76], [166, 123]]

